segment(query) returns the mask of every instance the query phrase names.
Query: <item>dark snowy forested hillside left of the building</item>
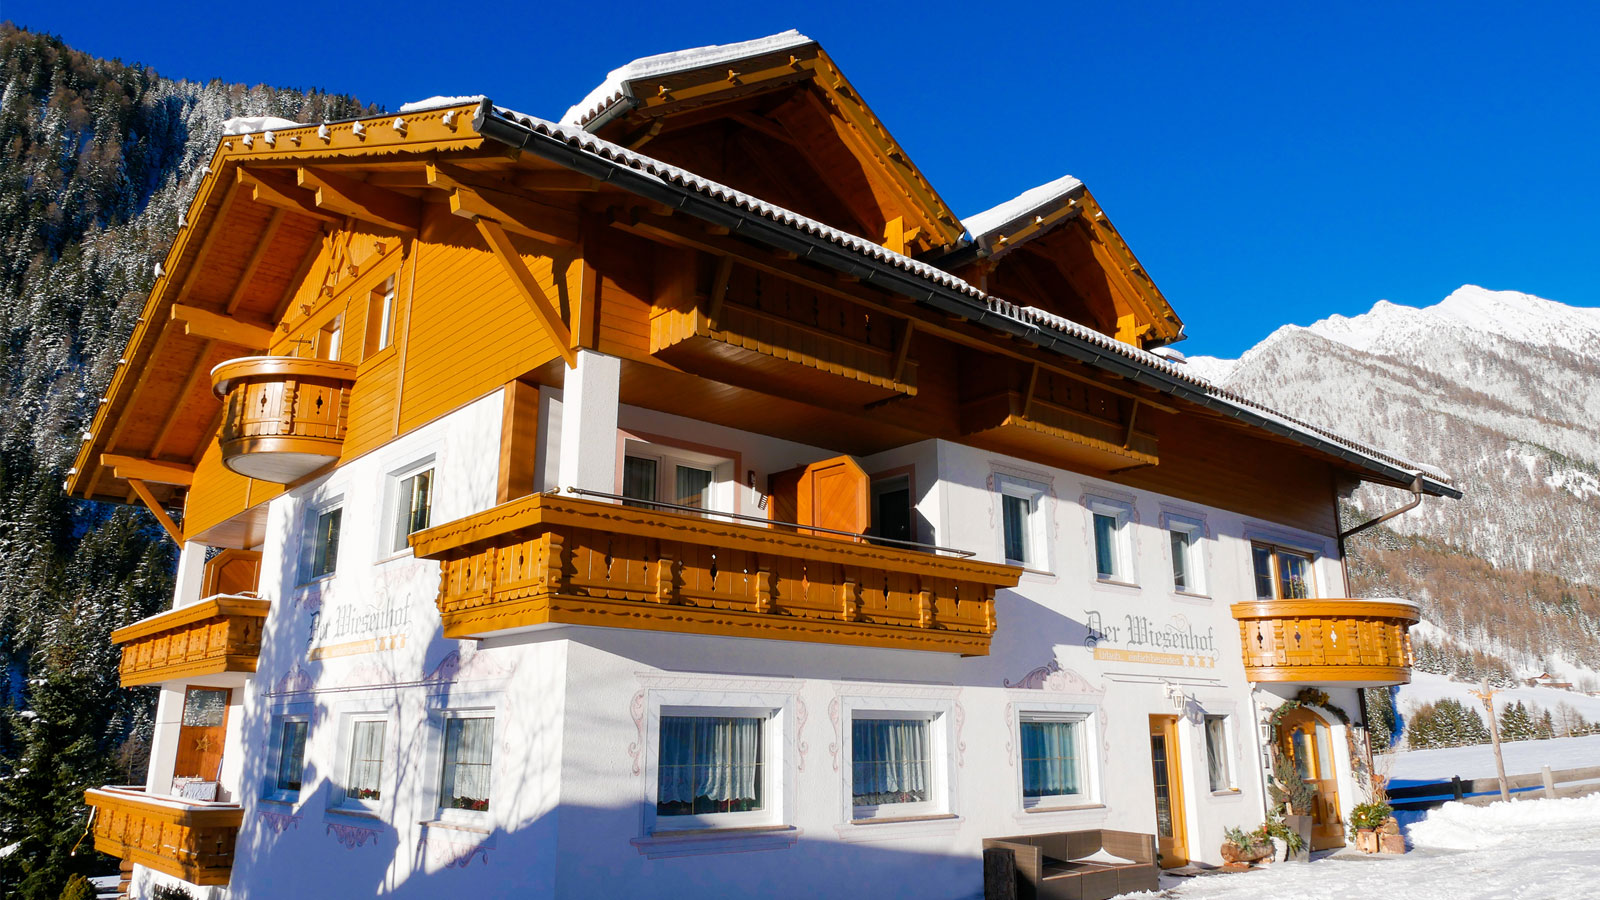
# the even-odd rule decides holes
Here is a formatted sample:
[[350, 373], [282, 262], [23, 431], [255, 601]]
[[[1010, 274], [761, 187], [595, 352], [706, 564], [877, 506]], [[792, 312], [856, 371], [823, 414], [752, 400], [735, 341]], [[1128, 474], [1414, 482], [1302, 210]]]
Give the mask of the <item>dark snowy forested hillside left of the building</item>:
[[[149, 692], [114, 628], [171, 594], [150, 517], [61, 482], [222, 120], [366, 112], [320, 91], [171, 82], [0, 24], [0, 895], [56, 900], [82, 790], [142, 778]], [[376, 112], [376, 110], [374, 110]]]

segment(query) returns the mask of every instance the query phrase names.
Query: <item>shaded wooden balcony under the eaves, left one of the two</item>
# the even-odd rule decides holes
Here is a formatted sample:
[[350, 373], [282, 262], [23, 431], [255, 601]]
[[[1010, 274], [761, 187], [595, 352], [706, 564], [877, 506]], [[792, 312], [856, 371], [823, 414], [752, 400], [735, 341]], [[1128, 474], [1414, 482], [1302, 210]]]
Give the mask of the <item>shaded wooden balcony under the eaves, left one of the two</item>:
[[658, 307], [650, 352], [686, 372], [784, 397], [862, 405], [917, 394], [904, 322], [742, 267], [723, 293], [722, 301]]

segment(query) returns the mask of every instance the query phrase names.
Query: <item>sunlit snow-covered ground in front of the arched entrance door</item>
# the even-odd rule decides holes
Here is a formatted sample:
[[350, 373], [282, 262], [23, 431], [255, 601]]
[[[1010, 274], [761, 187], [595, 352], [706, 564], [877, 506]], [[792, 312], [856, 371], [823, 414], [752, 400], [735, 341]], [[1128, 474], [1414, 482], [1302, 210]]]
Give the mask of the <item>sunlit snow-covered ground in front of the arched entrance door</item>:
[[[1446, 804], [1411, 826], [1403, 857], [1344, 852], [1312, 863], [1277, 863], [1237, 874], [1186, 879], [1171, 900], [1546, 900], [1600, 897], [1600, 796]], [[1163, 882], [1176, 881], [1163, 878]]]

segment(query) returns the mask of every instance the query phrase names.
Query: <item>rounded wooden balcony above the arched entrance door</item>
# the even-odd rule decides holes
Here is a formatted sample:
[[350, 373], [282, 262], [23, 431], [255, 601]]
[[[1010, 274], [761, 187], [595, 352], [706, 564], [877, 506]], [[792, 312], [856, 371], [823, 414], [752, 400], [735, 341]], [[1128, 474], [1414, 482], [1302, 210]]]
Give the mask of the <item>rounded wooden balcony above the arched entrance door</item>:
[[1418, 609], [1405, 601], [1234, 604], [1253, 682], [1378, 687], [1411, 681]]

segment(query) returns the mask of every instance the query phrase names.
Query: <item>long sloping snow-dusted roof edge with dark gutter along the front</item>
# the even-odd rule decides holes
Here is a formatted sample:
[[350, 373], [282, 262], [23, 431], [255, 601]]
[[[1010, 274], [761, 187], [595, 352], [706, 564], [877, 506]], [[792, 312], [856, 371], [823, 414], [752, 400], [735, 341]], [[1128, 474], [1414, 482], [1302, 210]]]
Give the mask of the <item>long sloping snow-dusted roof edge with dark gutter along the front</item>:
[[[717, 181], [699, 176], [685, 168], [661, 162], [658, 159], [648, 157], [637, 151], [630, 151], [619, 144], [613, 144], [602, 138], [595, 138], [594, 135], [584, 131], [582, 127], [576, 123], [549, 122], [536, 115], [526, 115], [493, 104], [490, 106], [494, 115], [504, 119], [506, 122], [510, 122], [512, 125], [517, 125], [528, 131], [554, 138], [555, 141], [560, 141], [568, 147], [578, 149], [590, 157], [606, 160], [611, 165], [626, 167], [637, 173], [654, 178], [664, 184], [675, 184], [678, 187], [693, 191], [696, 194], [702, 194], [728, 207], [734, 207], [747, 213], [770, 219], [773, 223], [787, 226], [800, 234], [843, 247], [853, 253], [861, 255], [866, 259], [893, 266], [896, 269], [917, 275], [918, 279], [923, 279], [930, 283], [957, 291], [970, 298], [971, 301], [982, 304], [986, 311], [994, 315], [1003, 315], [1006, 319], [1011, 319], [1013, 322], [1037, 328], [1040, 331], [1051, 331], [1056, 335], [1074, 338], [1085, 344], [1091, 344], [1093, 348], [1102, 349], [1110, 356], [1122, 357], [1123, 360], [1133, 362], [1146, 370], [1150, 370], [1166, 378], [1168, 381], [1184, 384], [1192, 391], [1200, 391], [1206, 397], [1218, 400], [1226, 407], [1232, 407], [1240, 412], [1248, 412], [1251, 416], [1262, 420], [1264, 423], [1277, 423], [1278, 428], [1286, 429], [1290, 432], [1301, 432], [1306, 436], [1315, 436], [1318, 439], [1328, 440], [1344, 448], [1349, 453], [1378, 463], [1384, 469], [1398, 468], [1410, 474], [1424, 474], [1426, 477], [1435, 480], [1440, 487], [1446, 488], [1448, 492], [1454, 492], [1448, 479], [1437, 469], [1419, 466], [1416, 463], [1384, 453], [1382, 450], [1366, 447], [1365, 444], [1344, 437], [1342, 434], [1336, 434], [1325, 428], [1299, 421], [1277, 410], [1264, 407], [1254, 400], [1250, 400], [1248, 397], [1243, 397], [1224, 388], [1218, 388], [1216, 384], [1206, 381], [1205, 378], [1186, 372], [1184, 364], [1176, 364], [1162, 359], [1160, 356], [1152, 354], [1142, 348], [1122, 343], [1109, 335], [1102, 335], [1086, 325], [1082, 325], [1070, 319], [1064, 319], [1053, 312], [1034, 306], [1019, 306], [1008, 299], [992, 296], [979, 290], [978, 287], [968, 283], [966, 280], [952, 275], [944, 269], [930, 266], [928, 263], [922, 263], [918, 259], [912, 259], [910, 256], [906, 256], [904, 253], [896, 253], [888, 247], [883, 247], [882, 243], [819, 223], [813, 218], [803, 216], [792, 210], [786, 210], [776, 203], [770, 203], [752, 194], [736, 191], [733, 187], [728, 187], [726, 184], [720, 184]], [[1061, 184], [1061, 181], [1058, 179], [1056, 183], [1051, 184]]]

